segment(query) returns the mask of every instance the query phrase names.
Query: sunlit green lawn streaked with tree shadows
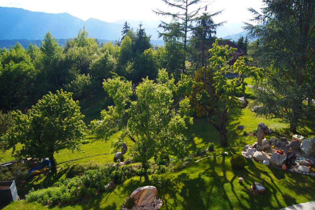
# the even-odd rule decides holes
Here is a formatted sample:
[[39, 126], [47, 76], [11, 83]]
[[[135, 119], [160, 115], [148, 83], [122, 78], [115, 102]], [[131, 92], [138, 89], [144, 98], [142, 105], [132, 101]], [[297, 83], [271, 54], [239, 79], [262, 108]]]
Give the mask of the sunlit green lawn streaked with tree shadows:
[[[249, 111], [249, 109], [233, 111], [229, 115], [227, 125], [229, 130], [228, 143], [237, 146], [226, 149], [218, 147], [214, 152], [215, 154], [208, 154], [218, 155], [222, 151], [228, 151], [229, 155], [216, 159], [203, 159], [198, 163], [191, 162], [179, 171], [154, 175], [166, 179], [164, 180], [163, 189], [159, 189], [159, 197], [163, 198], [164, 203], [162, 209], [279, 209], [296, 203], [315, 200], [315, 194], [313, 193], [314, 178], [267, 167], [251, 160], [247, 160], [247, 164], [242, 170], [231, 168], [230, 158], [232, 154], [240, 153], [245, 144], [253, 143], [256, 139], [255, 137], [245, 138], [243, 131], [238, 130], [237, 126], [244, 125], [244, 130], [251, 132], [257, 128], [259, 122], [266, 123], [269, 128], [276, 131], [275, 134], [269, 137], [274, 135], [289, 137], [288, 124], [282, 123], [279, 119], [255, 118], [255, 113]], [[219, 134], [206, 118], [195, 118], [191, 132], [195, 135], [189, 144], [191, 152], [206, 146], [208, 142], [215, 142], [216, 145], [219, 145]], [[304, 134], [305, 137], [314, 135], [314, 131], [308, 128], [301, 129], [299, 132]], [[55, 154], [59, 163], [95, 154], [110, 154], [59, 164], [56, 174], [38, 175], [27, 184], [24, 190], [27, 192], [30, 187], [40, 189], [51, 186], [57, 180], [67, 177], [67, 173], [71, 171], [73, 164], [89, 163], [90, 161], [112, 162], [113, 153], [110, 151], [110, 142], [115, 138], [117, 138], [117, 134], [113, 135], [108, 141], [88, 138], [90, 142], [82, 145], [84, 153], [72, 153], [62, 149]], [[126, 141], [127, 144], [131, 144], [128, 140]], [[240, 143], [240, 141], [243, 142]], [[126, 157], [128, 157], [128, 152]], [[1, 161], [13, 159], [10, 156], [10, 151], [0, 151], [0, 158]], [[238, 183], [238, 177], [244, 178], [245, 183], [243, 185]], [[149, 178], [152, 180], [152, 176]], [[253, 195], [249, 190], [249, 186], [254, 181], [261, 181], [262, 178], [266, 180], [267, 192], [261, 195]], [[37, 203], [18, 201], [9, 204], [4, 209], [119, 209], [124, 198], [129, 196], [134, 189], [151, 184], [150, 182], [144, 183], [143, 177], [142, 179], [132, 177], [118, 185], [110, 193], [101, 193], [77, 203], [45, 207]], [[26, 192], [20, 191], [20, 193]]]

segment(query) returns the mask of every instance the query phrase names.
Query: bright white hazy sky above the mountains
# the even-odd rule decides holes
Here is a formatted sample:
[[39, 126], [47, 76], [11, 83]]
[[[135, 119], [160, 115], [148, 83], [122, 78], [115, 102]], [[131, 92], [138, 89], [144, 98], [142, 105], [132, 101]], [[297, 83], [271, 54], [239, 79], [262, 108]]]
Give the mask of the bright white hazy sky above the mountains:
[[[31, 11], [47, 13], [69, 13], [87, 20], [90, 17], [102, 21], [160, 20], [152, 9], [169, 10], [161, 0], [0, 0], [2, 7], [18, 7]], [[216, 0], [208, 7], [209, 12], [224, 9], [222, 15], [214, 18], [216, 22], [247, 22], [252, 15], [246, 8], [259, 9], [261, 0]]]

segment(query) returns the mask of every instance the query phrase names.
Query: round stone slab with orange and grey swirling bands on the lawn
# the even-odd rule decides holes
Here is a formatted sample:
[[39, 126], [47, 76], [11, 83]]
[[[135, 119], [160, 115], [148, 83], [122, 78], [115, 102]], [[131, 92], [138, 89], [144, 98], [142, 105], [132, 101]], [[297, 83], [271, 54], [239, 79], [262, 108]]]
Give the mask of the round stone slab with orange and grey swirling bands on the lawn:
[[131, 198], [135, 199], [135, 203], [138, 206], [145, 206], [154, 200], [157, 196], [157, 189], [154, 186], [140, 187], [133, 191], [130, 195]]

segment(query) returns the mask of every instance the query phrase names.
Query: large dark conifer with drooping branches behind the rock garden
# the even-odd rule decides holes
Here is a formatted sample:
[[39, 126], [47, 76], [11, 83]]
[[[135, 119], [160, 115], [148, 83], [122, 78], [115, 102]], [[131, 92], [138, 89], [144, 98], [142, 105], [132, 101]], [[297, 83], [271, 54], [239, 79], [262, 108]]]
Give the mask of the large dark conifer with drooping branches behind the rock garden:
[[263, 80], [255, 82], [253, 105], [262, 106], [259, 115], [289, 122], [290, 131], [296, 133], [315, 116], [315, 2], [263, 2], [262, 14], [249, 9], [258, 24], [245, 27], [259, 39], [255, 55], [265, 69]]

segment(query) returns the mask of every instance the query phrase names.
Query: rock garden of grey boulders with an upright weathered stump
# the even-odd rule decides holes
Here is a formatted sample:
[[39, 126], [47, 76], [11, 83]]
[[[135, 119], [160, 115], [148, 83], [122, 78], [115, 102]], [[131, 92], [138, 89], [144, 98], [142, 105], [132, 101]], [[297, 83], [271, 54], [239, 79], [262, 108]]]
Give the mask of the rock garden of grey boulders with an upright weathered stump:
[[315, 136], [308, 139], [302, 135], [263, 138], [272, 132], [267, 125], [259, 123], [257, 141], [245, 145], [242, 155], [267, 166], [315, 177]]

